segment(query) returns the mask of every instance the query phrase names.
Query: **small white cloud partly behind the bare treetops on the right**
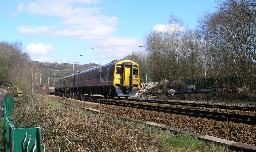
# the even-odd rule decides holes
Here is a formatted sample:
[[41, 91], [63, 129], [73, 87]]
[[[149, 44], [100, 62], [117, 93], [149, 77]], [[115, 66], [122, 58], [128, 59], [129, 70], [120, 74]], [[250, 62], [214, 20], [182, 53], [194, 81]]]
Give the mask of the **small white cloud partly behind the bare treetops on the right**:
[[152, 28], [154, 31], [158, 32], [167, 32], [167, 33], [173, 33], [174, 31], [183, 32], [186, 29], [183, 26], [180, 26], [179, 24], [157, 24]]

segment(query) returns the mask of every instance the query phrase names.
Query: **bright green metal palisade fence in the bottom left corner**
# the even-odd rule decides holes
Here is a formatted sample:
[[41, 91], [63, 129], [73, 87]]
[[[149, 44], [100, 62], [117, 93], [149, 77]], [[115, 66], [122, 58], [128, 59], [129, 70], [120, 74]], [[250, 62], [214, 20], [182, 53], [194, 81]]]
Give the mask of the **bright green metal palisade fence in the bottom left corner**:
[[9, 121], [13, 105], [12, 93], [3, 101], [6, 152], [42, 152], [40, 127], [19, 128], [15, 121]]

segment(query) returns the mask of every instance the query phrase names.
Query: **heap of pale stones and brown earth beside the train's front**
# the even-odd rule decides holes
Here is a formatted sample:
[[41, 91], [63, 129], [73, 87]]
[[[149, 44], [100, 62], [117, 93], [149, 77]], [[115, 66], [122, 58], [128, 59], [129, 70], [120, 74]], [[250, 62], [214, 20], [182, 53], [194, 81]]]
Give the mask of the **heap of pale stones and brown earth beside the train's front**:
[[180, 90], [186, 90], [188, 88], [189, 88], [188, 85], [186, 85], [180, 81], [169, 82], [168, 80], [161, 80], [159, 83], [158, 82], [150, 82], [150, 83], [141, 84], [137, 93], [140, 96], [146, 96], [146, 95], [157, 96], [159, 94], [164, 95], [164, 93], [168, 89], [180, 91]]

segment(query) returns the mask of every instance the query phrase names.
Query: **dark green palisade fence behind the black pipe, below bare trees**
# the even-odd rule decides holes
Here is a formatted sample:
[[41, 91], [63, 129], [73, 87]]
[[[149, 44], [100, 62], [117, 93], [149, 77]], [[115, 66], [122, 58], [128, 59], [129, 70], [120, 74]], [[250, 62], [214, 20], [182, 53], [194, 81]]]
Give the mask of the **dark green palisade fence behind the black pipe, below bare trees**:
[[238, 87], [242, 87], [241, 78], [228, 77], [228, 78], [198, 78], [198, 79], [181, 79], [181, 82], [187, 85], [195, 85], [196, 89], [211, 89], [218, 88], [221, 89], [225, 83], [235, 84]]

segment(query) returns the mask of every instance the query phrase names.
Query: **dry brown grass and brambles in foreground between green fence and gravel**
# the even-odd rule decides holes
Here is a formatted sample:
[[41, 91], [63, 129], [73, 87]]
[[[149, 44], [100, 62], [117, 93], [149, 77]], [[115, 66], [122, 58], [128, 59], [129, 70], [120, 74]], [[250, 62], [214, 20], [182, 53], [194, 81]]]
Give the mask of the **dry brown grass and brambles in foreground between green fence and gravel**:
[[189, 135], [175, 135], [143, 123], [86, 112], [44, 98], [22, 102], [11, 120], [20, 128], [38, 126], [46, 151], [229, 151]]

